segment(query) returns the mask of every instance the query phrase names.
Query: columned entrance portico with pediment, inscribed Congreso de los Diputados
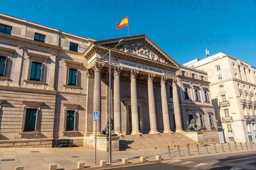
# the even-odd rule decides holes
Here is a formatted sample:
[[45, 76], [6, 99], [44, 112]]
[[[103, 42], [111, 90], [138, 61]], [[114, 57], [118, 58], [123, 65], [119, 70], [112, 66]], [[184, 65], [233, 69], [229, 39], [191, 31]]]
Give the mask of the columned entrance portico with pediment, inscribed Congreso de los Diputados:
[[[126, 37], [125, 40], [127, 45], [117, 46], [111, 51], [111, 62], [113, 63], [111, 66], [113, 71], [113, 87], [111, 87], [113, 112], [111, 114], [113, 114], [115, 133], [132, 135], [154, 134], [159, 131], [170, 133], [172, 132], [170, 125], [173, 123], [170, 120], [172, 119], [171, 108], [174, 108], [177, 130], [182, 130], [178, 89], [175, 88], [175, 83], [172, 91], [177, 97], [173, 101], [177, 102], [175, 107], [170, 106], [166, 91], [166, 83], [175, 82], [179, 65], [145, 35], [141, 35], [137, 39]], [[100, 113], [97, 131], [102, 130], [102, 125], [105, 125], [107, 116], [103, 114], [101, 106], [102, 100], [108, 99], [108, 97], [104, 99], [104, 94], [107, 96], [108, 92], [102, 91], [102, 87], [108, 86], [108, 84], [100, 76], [108, 70], [108, 56], [100, 58], [118, 41], [98, 41], [97, 44], [89, 46], [84, 55], [88, 59], [88, 69], [94, 70], [94, 87], [88, 90], [93, 90], [93, 109]], [[106, 90], [108, 91], [108, 89]], [[139, 106], [138, 101], [143, 101], [143, 105]], [[127, 105], [128, 102], [130, 102], [130, 106]], [[129, 107], [131, 119], [129, 119]], [[107, 114], [109, 111], [106, 111]], [[90, 122], [87, 121], [87, 123]], [[93, 129], [94, 127], [95, 124]], [[131, 132], [129, 127], [132, 128]], [[99, 131], [97, 133], [100, 133]]]

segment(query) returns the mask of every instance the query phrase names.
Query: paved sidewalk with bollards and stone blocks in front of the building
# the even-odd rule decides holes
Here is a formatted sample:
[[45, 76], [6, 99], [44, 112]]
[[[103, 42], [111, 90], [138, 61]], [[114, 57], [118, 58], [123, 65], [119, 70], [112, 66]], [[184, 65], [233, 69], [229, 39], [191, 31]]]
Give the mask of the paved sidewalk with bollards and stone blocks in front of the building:
[[[241, 150], [240, 143], [237, 143], [237, 149], [233, 143], [230, 144], [231, 152], [247, 152], [251, 151], [250, 144], [248, 150], [243, 143]], [[252, 144], [253, 150], [256, 150], [256, 144]], [[208, 153], [210, 154], [228, 154], [230, 153], [228, 144], [224, 144], [224, 153], [220, 144], [216, 144], [217, 153], [215, 153], [213, 145], [208, 145]], [[180, 157], [178, 157], [177, 147], [170, 149], [170, 159], [187, 159], [192, 157], [206, 156], [206, 147], [199, 147], [200, 155], [198, 155], [196, 147], [189, 147], [190, 156], [188, 156], [187, 148], [180, 148]], [[155, 156], [160, 155], [162, 159], [169, 159], [167, 147], [166, 149], [151, 150], [127, 150], [112, 152], [112, 163], [107, 167], [124, 166], [122, 158], [128, 158], [129, 164], [140, 163], [140, 156], [146, 156], [146, 163], [154, 162]], [[24, 170], [48, 170], [49, 164], [57, 164], [57, 169], [75, 170], [77, 162], [84, 161], [85, 169], [99, 169], [100, 160], [107, 160], [108, 152], [97, 150], [97, 164], [94, 164], [94, 150], [83, 147], [66, 147], [66, 148], [3, 148], [0, 149], [0, 169], [15, 170], [16, 166], [24, 166]], [[9, 159], [9, 160], [6, 160]], [[163, 161], [162, 160], [162, 161]]]

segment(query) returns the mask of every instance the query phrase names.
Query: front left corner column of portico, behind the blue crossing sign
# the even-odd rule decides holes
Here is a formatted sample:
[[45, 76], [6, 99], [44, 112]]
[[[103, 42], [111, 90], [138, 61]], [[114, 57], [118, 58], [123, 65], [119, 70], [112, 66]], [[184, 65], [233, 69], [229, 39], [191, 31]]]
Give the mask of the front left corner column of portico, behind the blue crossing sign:
[[93, 111], [98, 111], [98, 121], [93, 121], [93, 132], [97, 122], [97, 133], [101, 133], [101, 69], [103, 65], [96, 62], [93, 65], [94, 69], [94, 91], [93, 91]]

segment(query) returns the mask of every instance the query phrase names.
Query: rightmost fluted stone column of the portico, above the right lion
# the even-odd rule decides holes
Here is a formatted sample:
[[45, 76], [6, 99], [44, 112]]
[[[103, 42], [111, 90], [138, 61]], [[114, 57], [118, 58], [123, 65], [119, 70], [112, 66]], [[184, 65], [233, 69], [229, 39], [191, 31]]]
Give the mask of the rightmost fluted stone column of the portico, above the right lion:
[[181, 127], [178, 85], [177, 85], [176, 79], [173, 79], [173, 82], [172, 82], [172, 94], [173, 94], [173, 108], [174, 108], [174, 115], [175, 115], [176, 132], [182, 132], [183, 130]]

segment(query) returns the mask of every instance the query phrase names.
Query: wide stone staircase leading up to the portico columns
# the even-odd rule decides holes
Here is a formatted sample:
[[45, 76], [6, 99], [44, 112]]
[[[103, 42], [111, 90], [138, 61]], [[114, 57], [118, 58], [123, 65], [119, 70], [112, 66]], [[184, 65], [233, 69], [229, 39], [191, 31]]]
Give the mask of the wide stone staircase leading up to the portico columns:
[[174, 148], [177, 145], [186, 147], [187, 144], [196, 145], [197, 142], [181, 133], [125, 135], [119, 139], [119, 150]]

